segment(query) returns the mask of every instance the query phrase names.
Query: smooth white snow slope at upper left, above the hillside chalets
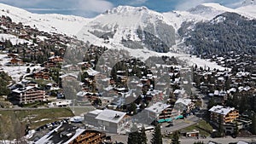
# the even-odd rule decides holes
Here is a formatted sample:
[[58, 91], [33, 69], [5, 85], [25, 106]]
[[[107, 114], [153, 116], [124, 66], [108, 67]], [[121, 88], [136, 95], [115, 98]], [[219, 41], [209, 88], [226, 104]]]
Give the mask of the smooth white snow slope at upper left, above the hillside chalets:
[[32, 14], [24, 9], [0, 3], [0, 15], [9, 16], [16, 23], [32, 26], [44, 32], [76, 35], [90, 21], [79, 16], [62, 14]]

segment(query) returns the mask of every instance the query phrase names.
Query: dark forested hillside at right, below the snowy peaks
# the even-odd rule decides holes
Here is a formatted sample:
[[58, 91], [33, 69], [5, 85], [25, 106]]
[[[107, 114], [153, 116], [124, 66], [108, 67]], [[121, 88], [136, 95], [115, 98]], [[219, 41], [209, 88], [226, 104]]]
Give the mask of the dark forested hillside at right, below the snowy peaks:
[[193, 47], [191, 53], [218, 54], [228, 51], [256, 54], [256, 20], [236, 13], [219, 14], [211, 21], [199, 22], [194, 31], [179, 31], [185, 43]]

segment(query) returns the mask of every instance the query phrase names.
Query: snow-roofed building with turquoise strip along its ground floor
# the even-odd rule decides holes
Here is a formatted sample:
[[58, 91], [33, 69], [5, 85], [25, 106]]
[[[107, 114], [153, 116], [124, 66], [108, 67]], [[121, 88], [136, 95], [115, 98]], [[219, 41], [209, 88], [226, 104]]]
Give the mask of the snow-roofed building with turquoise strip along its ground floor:
[[156, 102], [151, 107], [145, 108], [147, 114], [148, 124], [156, 120], [159, 123], [172, 121], [172, 107], [171, 105], [164, 104], [162, 102]]

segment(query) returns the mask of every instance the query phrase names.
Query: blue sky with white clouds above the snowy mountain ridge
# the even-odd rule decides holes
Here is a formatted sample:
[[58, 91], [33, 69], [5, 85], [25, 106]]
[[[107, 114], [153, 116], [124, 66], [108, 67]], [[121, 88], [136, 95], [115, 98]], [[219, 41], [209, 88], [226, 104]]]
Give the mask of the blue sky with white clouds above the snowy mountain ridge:
[[146, 6], [158, 12], [187, 10], [201, 3], [220, 3], [236, 8], [245, 0], [0, 0], [38, 14], [73, 14], [94, 17], [119, 5]]

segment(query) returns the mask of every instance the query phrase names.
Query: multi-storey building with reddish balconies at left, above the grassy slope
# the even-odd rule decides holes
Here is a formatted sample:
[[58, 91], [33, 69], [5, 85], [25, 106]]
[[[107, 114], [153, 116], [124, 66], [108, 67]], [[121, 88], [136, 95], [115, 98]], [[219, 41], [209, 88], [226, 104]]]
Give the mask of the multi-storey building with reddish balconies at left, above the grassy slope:
[[35, 101], [47, 101], [49, 95], [45, 95], [43, 89], [39, 89], [34, 86], [27, 86], [23, 88], [17, 88], [12, 90], [14, 101], [19, 104], [26, 104]]

